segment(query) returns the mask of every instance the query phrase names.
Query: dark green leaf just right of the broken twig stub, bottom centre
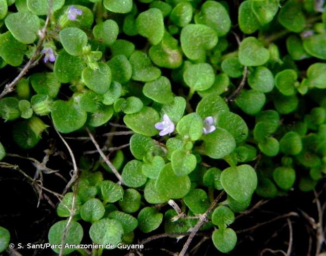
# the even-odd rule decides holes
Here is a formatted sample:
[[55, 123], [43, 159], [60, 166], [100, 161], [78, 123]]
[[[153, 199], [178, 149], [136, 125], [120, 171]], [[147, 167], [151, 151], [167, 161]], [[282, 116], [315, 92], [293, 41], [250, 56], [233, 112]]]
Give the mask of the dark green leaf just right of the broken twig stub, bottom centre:
[[191, 190], [183, 200], [194, 214], [203, 214], [210, 205], [207, 194], [203, 189]]

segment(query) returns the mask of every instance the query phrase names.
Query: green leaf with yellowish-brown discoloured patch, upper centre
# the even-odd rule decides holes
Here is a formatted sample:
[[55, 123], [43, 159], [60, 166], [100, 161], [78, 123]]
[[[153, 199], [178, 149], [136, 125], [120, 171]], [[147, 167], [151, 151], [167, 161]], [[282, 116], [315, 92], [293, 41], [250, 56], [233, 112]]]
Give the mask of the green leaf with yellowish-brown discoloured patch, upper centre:
[[159, 45], [149, 48], [148, 55], [155, 65], [162, 68], [176, 69], [182, 64], [182, 52], [178, 47], [178, 40], [168, 32], [164, 33]]

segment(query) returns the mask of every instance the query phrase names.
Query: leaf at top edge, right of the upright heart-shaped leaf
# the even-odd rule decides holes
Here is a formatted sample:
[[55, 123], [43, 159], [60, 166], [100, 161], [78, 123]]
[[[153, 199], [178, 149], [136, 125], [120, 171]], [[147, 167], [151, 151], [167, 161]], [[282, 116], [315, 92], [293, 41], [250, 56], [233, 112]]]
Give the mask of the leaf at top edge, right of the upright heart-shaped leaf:
[[185, 27], [193, 17], [193, 6], [189, 2], [180, 2], [173, 8], [170, 14], [172, 23], [179, 27]]

